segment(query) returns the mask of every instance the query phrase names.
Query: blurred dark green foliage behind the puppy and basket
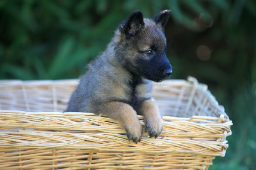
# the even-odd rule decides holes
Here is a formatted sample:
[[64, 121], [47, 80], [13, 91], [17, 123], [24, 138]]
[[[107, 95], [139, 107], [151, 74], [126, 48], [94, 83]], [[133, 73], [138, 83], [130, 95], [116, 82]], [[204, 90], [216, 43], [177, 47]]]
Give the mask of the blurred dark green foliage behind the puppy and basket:
[[256, 1], [1, 0], [0, 79], [77, 79], [134, 10], [165, 28], [172, 79], [207, 84], [233, 121], [210, 169], [256, 167]]

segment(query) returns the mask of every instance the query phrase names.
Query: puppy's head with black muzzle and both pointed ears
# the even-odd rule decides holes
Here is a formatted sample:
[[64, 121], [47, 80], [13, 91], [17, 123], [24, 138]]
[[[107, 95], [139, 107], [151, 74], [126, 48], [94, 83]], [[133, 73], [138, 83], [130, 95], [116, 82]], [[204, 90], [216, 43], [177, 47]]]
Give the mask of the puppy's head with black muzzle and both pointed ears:
[[169, 16], [170, 10], [164, 10], [154, 20], [145, 19], [137, 10], [120, 25], [116, 56], [127, 70], [156, 82], [170, 77], [172, 66], [163, 33]]

